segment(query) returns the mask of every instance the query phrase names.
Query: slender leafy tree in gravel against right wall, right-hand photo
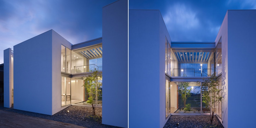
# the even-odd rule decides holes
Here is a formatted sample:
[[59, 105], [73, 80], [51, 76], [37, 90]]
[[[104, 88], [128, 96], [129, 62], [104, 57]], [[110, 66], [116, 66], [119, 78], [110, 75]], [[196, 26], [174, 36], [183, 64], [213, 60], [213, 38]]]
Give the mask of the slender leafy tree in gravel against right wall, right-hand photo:
[[219, 96], [222, 89], [217, 88], [219, 86], [219, 79], [217, 79], [215, 74], [212, 74], [209, 79], [204, 80], [204, 83], [202, 84], [203, 103], [205, 103], [207, 108], [210, 108], [211, 110], [213, 109], [210, 113], [211, 124], [213, 123], [215, 108], [222, 99], [222, 96]]

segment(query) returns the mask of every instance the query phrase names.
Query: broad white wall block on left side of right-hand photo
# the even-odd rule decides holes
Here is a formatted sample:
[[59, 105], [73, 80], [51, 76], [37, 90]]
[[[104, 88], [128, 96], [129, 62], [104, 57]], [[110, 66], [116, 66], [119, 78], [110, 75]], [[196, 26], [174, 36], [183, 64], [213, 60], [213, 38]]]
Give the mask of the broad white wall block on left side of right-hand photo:
[[165, 36], [159, 10], [129, 10], [129, 126], [163, 127]]

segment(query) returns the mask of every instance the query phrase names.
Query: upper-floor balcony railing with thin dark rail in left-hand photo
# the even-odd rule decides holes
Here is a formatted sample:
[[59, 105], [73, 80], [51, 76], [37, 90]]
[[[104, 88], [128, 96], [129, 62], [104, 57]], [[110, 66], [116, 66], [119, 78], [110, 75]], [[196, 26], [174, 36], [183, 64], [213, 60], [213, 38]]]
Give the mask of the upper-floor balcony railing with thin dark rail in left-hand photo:
[[72, 73], [82, 73], [82, 72], [93, 72], [93, 71], [102, 71], [102, 67], [98, 67], [95, 64], [92, 65], [83, 65], [75, 67], [75, 70], [72, 69]]

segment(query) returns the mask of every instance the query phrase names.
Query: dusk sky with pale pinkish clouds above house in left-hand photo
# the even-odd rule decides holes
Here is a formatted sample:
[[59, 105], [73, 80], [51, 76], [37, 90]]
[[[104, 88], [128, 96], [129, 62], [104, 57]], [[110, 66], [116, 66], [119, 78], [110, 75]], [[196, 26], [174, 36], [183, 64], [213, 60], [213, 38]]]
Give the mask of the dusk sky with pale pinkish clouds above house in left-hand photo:
[[115, 1], [0, 0], [0, 64], [5, 49], [51, 29], [72, 44], [101, 37], [102, 7]]

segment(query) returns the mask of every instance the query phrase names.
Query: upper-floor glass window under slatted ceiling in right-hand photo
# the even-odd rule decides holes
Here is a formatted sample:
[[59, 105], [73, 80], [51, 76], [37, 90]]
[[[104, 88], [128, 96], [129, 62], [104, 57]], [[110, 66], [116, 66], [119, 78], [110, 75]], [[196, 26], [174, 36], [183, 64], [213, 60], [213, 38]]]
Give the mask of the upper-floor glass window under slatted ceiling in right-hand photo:
[[[172, 49], [178, 68], [173, 68], [173, 76], [205, 77], [213, 74], [211, 60], [214, 49]], [[175, 65], [174, 65], [175, 66]]]

